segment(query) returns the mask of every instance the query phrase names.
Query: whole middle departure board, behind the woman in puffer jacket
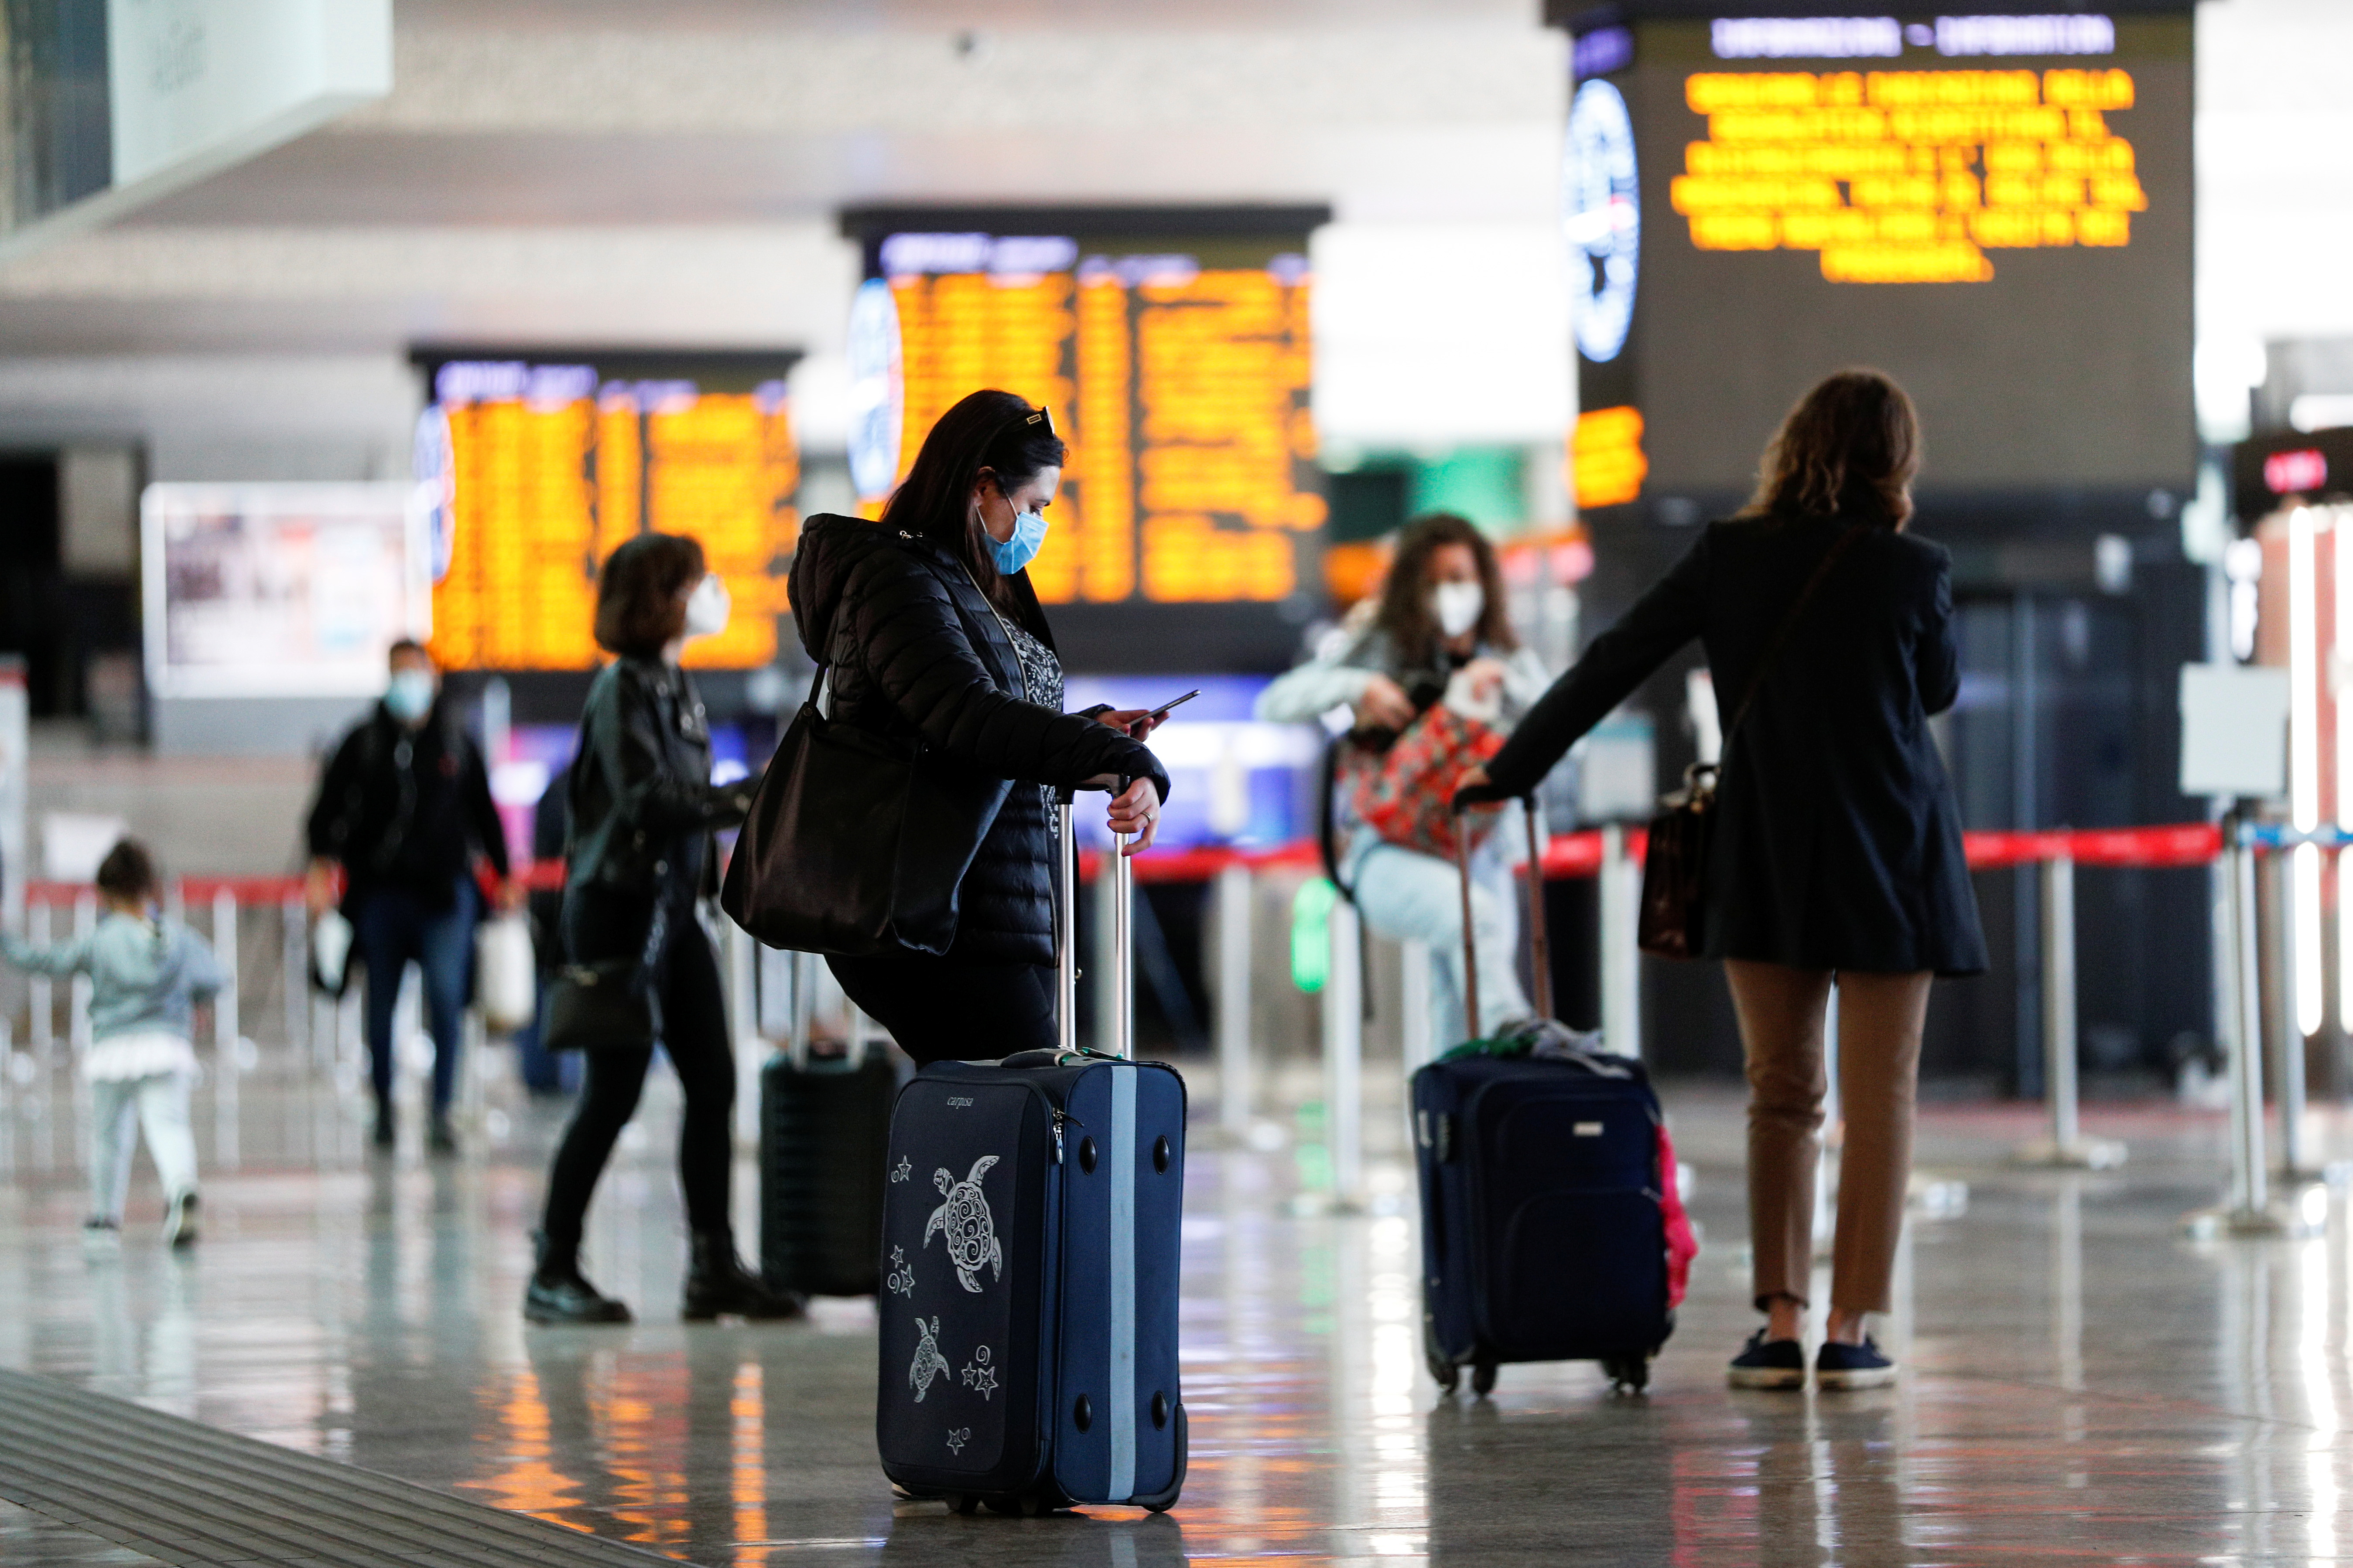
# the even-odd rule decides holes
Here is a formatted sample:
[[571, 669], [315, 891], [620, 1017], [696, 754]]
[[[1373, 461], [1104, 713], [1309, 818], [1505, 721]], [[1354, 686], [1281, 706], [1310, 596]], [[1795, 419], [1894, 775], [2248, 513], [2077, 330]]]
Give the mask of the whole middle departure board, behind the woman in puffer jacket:
[[[1071, 442], [1028, 569], [1066, 661], [1282, 668], [1322, 602], [1306, 263], [1322, 209], [845, 214], [868, 512], [981, 388]], [[1191, 651], [1167, 644], [1181, 635]], [[1202, 661], [1209, 661], [1207, 665]]]

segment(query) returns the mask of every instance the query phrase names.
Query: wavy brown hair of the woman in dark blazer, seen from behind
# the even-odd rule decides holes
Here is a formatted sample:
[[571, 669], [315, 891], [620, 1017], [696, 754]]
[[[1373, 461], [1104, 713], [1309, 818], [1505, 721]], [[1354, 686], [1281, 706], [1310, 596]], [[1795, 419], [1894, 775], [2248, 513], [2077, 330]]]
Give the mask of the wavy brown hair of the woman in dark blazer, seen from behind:
[[1915, 473], [1920, 416], [1911, 397], [1875, 369], [1842, 369], [1781, 421], [1741, 515], [1878, 517], [1901, 529]]

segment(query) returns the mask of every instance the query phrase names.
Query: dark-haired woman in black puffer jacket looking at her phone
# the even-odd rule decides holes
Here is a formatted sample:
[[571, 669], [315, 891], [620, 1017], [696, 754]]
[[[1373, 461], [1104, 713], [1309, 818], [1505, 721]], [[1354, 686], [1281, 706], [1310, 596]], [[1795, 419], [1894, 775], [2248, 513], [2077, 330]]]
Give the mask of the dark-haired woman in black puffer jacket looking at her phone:
[[1028, 583], [1064, 444], [1045, 409], [972, 393], [922, 442], [880, 522], [812, 517], [793, 557], [800, 642], [831, 668], [828, 717], [1009, 778], [960, 884], [955, 940], [826, 964], [918, 1063], [1054, 1044], [1052, 790], [1120, 790], [1111, 830], [1151, 846], [1167, 771], [1151, 715], [1061, 710]]

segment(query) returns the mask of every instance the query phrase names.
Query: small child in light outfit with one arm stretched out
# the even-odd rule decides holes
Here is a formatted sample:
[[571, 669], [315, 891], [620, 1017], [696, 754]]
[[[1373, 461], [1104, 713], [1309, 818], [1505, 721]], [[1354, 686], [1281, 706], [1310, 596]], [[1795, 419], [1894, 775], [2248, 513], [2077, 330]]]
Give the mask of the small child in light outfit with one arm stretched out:
[[162, 1237], [195, 1241], [195, 1135], [188, 1091], [195, 1004], [224, 985], [221, 966], [193, 931], [155, 917], [155, 863], [136, 839], [99, 863], [106, 914], [89, 936], [38, 947], [0, 933], [12, 964], [52, 976], [89, 976], [89, 1222], [85, 1241], [104, 1251], [122, 1232], [122, 1190], [132, 1175], [132, 1124], [146, 1128], [148, 1159], [165, 1190]]

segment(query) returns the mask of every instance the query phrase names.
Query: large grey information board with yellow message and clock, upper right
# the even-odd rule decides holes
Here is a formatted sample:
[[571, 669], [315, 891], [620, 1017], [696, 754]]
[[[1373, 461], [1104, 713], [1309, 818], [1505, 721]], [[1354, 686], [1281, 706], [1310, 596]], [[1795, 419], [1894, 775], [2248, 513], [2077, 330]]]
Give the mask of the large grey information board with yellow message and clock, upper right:
[[1920, 404], [1925, 491], [2188, 487], [2186, 5], [1647, 9], [1574, 35], [1588, 508], [1746, 491], [1779, 416], [1847, 364]]

